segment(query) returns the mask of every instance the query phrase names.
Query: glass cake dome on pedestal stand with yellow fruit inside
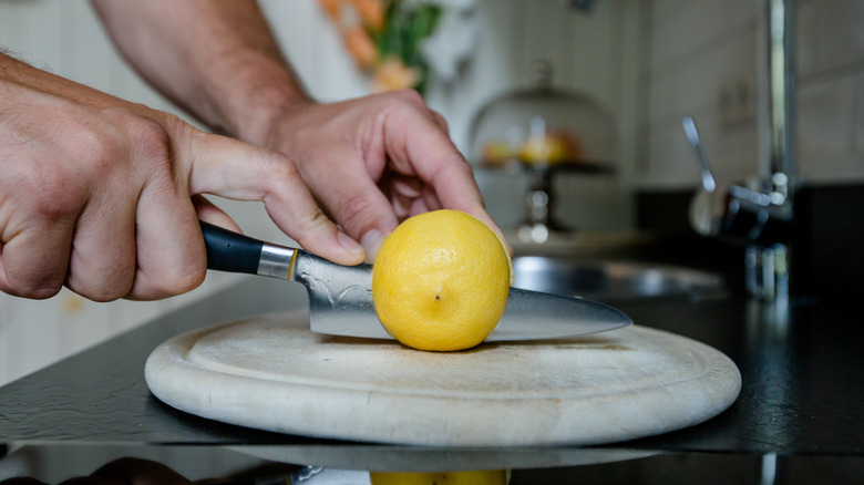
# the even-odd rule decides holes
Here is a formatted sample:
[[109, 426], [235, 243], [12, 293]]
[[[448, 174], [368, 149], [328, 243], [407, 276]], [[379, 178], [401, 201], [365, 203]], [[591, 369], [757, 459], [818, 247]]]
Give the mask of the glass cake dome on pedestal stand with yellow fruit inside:
[[543, 244], [573, 229], [553, 219], [552, 178], [562, 172], [614, 174], [615, 123], [598, 101], [553, 87], [552, 69], [535, 64], [536, 85], [497, 97], [472, 121], [469, 158], [481, 169], [529, 177], [520, 239]]

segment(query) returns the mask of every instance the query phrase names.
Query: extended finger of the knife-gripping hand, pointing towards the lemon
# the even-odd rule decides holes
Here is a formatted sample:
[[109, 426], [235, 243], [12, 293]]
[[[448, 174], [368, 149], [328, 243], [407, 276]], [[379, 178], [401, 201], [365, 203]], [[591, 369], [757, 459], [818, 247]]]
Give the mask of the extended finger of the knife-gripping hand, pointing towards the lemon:
[[270, 219], [305, 249], [340, 265], [366, 258], [362, 246], [321, 211], [287, 156], [198, 132], [185, 157], [192, 195], [263, 202]]

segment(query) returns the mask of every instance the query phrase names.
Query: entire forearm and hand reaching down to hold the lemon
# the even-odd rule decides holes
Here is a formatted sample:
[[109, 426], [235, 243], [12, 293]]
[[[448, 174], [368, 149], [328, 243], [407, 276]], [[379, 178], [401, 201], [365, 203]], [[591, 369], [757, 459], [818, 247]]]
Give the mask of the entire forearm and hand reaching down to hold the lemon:
[[214, 130], [291, 157], [368, 260], [401, 220], [424, 210], [461, 209], [496, 228], [446, 124], [416, 92], [310, 102], [256, 2], [94, 4], [160, 91]]

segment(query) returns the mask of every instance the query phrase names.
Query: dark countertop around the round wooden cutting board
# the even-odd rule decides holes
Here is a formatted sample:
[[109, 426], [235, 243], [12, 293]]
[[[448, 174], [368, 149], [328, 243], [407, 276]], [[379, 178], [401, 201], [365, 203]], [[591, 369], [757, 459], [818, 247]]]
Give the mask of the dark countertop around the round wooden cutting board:
[[[250, 278], [0, 388], [0, 443], [260, 445], [285, 450], [288, 456], [294, 450], [310, 461], [316, 460], [316, 450], [322, 456], [331, 456], [333, 450], [422, 455], [422, 448], [312, 440], [222, 424], [175, 411], [147, 390], [144, 362], [168, 338], [299, 305], [306, 305], [299, 285]], [[560, 456], [567, 454], [608, 454], [611, 461], [616, 453], [635, 452], [742, 460], [840, 456], [856, 466], [864, 463], [864, 352], [853, 331], [861, 320], [854, 302], [793, 301], [780, 307], [732, 296], [697, 302], [629, 302], [619, 308], [637, 324], [690, 337], [729, 355], [743, 380], [737, 402], [708, 422], [660, 436], [595, 448], [495, 451], [502, 460], [516, 462], [513, 467], [532, 468], [534, 455], [544, 455], [545, 461], [536, 463], [544, 467], [566, 465], [567, 458]], [[559, 461], [548, 462], [549, 452]], [[328, 460], [317, 464], [326, 465]]]

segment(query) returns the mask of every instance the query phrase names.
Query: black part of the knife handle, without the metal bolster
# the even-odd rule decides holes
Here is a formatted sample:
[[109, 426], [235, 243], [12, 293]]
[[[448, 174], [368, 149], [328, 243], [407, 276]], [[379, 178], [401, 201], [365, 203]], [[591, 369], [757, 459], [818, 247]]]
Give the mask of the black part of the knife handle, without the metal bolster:
[[264, 242], [199, 220], [207, 247], [207, 268], [257, 275]]

